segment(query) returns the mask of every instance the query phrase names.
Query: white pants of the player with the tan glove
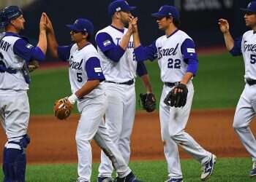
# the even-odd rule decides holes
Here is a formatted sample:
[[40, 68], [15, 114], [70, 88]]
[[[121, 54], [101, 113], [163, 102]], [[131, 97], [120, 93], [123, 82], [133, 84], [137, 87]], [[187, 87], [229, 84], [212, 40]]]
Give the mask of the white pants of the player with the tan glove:
[[78, 104], [80, 105], [78, 107], [82, 108], [78, 129], [75, 134], [78, 150], [78, 179], [80, 181], [90, 181], [92, 162], [90, 143], [93, 138], [108, 153], [118, 176], [124, 177], [128, 175], [131, 170], [126, 162], [124, 162], [116, 145], [111, 141], [107, 128], [105, 127], [103, 115], [107, 106], [106, 96], [101, 95]]

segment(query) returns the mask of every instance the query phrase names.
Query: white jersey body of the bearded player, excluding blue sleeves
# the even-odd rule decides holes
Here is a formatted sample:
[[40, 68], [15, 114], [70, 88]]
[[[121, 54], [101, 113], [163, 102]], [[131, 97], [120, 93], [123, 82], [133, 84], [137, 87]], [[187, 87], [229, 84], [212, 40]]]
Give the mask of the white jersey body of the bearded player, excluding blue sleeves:
[[[108, 33], [112, 37], [113, 42], [118, 45], [124, 34], [127, 33], [127, 28], [124, 28], [124, 32], [121, 32], [120, 30], [109, 25], [108, 27], [98, 31], [97, 35], [102, 32]], [[108, 44], [110, 44], [110, 40], [103, 42], [103, 46], [105, 47], [108, 47]], [[130, 38], [127, 50], [124, 52], [124, 55], [120, 58], [118, 63], [115, 63], [113, 60], [107, 58], [102, 50], [99, 49], [99, 46], [97, 47], [97, 50], [99, 52], [102, 70], [106, 80], [121, 83], [135, 78], [137, 62], [135, 61], [135, 56], [133, 55], [134, 50], [132, 36]]]

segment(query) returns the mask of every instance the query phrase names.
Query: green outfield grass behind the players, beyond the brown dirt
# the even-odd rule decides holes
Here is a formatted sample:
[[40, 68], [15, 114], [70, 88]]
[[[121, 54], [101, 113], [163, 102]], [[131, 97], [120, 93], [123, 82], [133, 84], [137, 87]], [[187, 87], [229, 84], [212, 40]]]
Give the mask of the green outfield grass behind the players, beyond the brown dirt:
[[[157, 61], [146, 62], [154, 93], [159, 98], [162, 82]], [[199, 69], [193, 80], [195, 96], [192, 108], [235, 108], [244, 87], [244, 63], [241, 57], [228, 54], [199, 57]], [[137, 100], [145, 92], [143, 83], [136, 81]], [[70, 95], [67, 68], [35, 71], [29, 90], [31, 114], [53, 114], [56, 99]], [[137, 109], [141, 109], [137, 103]], [[158, 103], [157, 103], [158, 108]]]

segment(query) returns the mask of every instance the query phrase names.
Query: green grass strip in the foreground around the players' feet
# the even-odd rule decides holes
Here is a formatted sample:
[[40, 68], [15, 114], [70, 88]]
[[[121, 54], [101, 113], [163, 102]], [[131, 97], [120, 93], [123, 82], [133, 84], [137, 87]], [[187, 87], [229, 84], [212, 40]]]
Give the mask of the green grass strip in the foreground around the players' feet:
[[[219, 158], [213, 175], [208, 180], [214, 181], [255, 181], [249, 178], [248, 173], [251, 169], [252, 161], [249, 158]], [[91, 181], [96, 182], [97, 169], [99, 164], [93, 165]], [[144, 182], [163, 182], [167, 179], [167, 164], [164, 161], [154, 162], [131, 162], [129, 165], [138, 178]], [[70, 179], [77, 178], [77, 165], [29, 165], [26, 172], [27, 182], [69, 182]], [[200, 181], [201, 166], [192, 159], [181, 160], [181, 168], [184, 181]], [[0, 179], [2, 173], [0, 173]]]

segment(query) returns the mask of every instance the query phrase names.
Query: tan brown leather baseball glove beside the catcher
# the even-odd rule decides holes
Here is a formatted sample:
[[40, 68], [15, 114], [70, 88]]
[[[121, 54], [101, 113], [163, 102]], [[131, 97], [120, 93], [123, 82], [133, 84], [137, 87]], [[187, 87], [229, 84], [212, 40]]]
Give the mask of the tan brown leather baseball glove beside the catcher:
[[70, 116], [72, 109], [73, 105], [69, 102], [67, 98], [61, 98], [60, 100], [56, 100], [53, 106], [55, 116], [61, 120], [67, 119], [67, 117]]

